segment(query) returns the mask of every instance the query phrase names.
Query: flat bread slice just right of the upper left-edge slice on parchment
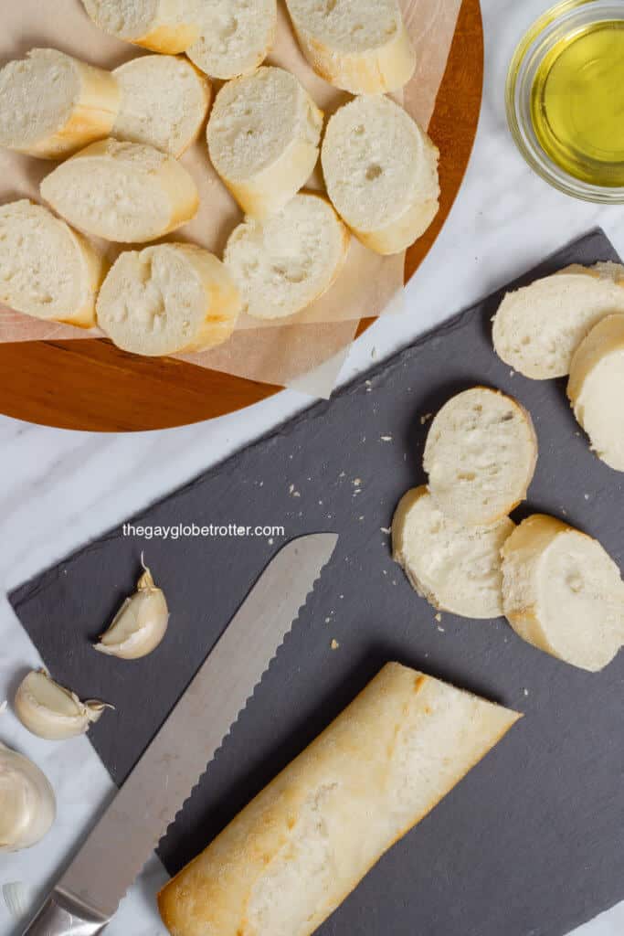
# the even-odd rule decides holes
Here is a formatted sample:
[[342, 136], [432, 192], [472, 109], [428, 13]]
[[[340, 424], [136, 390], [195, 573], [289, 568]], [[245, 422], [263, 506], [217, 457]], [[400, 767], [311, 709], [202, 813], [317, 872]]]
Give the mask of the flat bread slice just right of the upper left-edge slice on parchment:
[[122, 94], [112, 136], [181, 156], [210, 107], [210, 80], [184, 58], [143, 55], [113, 72]]

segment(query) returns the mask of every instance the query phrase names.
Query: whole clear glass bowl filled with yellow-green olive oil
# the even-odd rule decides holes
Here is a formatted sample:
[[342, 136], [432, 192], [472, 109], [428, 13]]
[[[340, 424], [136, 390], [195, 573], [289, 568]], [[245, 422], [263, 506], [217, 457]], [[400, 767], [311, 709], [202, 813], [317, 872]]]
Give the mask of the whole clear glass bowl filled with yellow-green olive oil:
[[624, 203], [624, 0], [564, 0], [522, 40], [507, 115], [529, 162], [559, 190]]

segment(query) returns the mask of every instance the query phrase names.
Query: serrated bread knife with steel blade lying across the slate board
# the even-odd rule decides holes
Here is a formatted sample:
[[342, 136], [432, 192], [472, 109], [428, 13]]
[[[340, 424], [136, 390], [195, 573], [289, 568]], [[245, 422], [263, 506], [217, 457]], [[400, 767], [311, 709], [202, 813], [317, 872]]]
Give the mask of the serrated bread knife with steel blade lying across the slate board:
[[189, 797], [336, 546], [301, 536], [268, 564], [23, 936], [101, 932]]

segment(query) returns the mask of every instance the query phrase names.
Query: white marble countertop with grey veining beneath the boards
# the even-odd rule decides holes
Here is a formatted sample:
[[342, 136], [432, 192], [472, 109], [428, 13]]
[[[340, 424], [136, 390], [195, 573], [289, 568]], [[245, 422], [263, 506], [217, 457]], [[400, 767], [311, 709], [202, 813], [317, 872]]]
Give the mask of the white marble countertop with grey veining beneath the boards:
[[[506, 129], [507, 63], [521, 32], [549, 4], [482, 0], [482, 6], [485, 98], [466, 181], [441, 237], [409, 287], [409, 313], [370, 329], [352, 352], [343, 379], [589, 227], [602, 225], [624, 253], [621, 209], [584, 204], [551, 190], [516, 154]], [[54, 431], [0, 417], [0, 701], [11, 695], [25, 667], [39, 663], [5, 592], [309, 402], [287, 392], [252, 410], [200, 426], [136, 435]], [[0, 856], [0, 885], [22, 881], [41, 889], [109, 795], [108, 775], [86, 739], [60, 745], [34, 739], [10, 712], [0, 718], [0, 739], [30, 754], [46, 770], [58, 794], [58, 821], [49, 837], [28, 852]], [[109, 928], [111, 936], [163, 933], [153, 893], [164, 879], [164, 871], [152, 858], [123, 901]], [[0, 898], [0, 936], [20, 931]], [[624, 904], [575, 936], [619, 936], [622, 931]]]

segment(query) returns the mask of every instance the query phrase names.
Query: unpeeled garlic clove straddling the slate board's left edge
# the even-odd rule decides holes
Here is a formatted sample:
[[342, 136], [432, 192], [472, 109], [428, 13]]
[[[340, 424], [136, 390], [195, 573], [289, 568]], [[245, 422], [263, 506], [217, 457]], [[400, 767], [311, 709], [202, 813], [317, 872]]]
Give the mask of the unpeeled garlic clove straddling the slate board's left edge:
[[112, 706], [96, 699], [81, 702], [43, 669], [29, 673], [15, 695], [15, 714], [24, 727], [51, 741], [83, 735], [104, 709]]

